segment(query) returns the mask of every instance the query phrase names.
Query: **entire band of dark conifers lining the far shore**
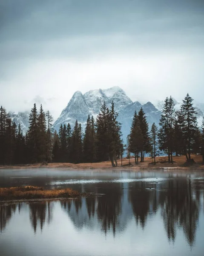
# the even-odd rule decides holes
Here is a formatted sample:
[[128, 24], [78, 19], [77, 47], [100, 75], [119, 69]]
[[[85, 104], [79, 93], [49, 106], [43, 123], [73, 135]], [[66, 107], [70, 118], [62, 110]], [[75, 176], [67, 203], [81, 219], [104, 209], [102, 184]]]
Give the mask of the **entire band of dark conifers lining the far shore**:
[[54, 131], [53, 117], [45, 113], [43, 106], [37, 111], [34, 104], [29, 115], [29, 129], [23, 134], [20, 124], [12, 122], [9, 113], [0, 108], [0, 165], [29, 163], [94, 163], [110, 160], [118, 166], [117, 160], [126, 154], [135, 157], [135, 163], [144, 161], [145, 154], [152, 157], [166, 154], [173, 163], [174, 155], [185, 155], [192, 164], [191, 154], [201, 154], [204, 163], [204, 118], [198, 127], [193, 99], [187, 94], [180, 110], [175, 111], [172, 97], [165, 99], [159, 127], [149, 128], [143, 109], [134, 113], [129, 135], [124, 144], [121, 123], [114, 102], [108, 108], [104, 102], [96, 120], [88, 116], [85, 131], [76, 120], [74, 127], [61, 125]]

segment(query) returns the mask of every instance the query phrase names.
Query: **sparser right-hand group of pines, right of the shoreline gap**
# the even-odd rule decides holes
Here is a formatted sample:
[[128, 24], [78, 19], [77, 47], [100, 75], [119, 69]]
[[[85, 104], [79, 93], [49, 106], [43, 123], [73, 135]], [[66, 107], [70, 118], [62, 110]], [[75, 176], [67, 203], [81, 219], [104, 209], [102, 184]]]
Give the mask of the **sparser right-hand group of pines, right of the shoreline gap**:
[[191, 154], [201, 153], [204, 162], [204, 118], [201, 129], [193, 107], [193, 99], [187, 94], [180, 110], [175, 111], [175, 104], [170, 98], [165, 99], [162, 109], [159, 128], [153, 123], [150, 132], [144, 111], [135, 112], [130, 134], [127, 137], [128, 154], [135, 154], [135, 163], [138, 157], [144, 161], [144, 153], [150, 153], [154, 163], [158, 150], [168, 155], [168, 162], [173, 163], [173, 154], [185, 155], [191, 163]]

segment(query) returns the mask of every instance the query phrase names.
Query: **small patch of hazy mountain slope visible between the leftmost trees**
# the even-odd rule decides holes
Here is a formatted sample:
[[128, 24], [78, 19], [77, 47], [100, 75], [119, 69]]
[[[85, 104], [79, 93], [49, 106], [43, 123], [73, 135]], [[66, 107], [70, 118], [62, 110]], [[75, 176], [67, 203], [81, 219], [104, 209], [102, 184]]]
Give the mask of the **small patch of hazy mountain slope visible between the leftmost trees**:
[[11, 117], [12, 122], [15, 122], [17, 126], [20, 124], [23, 134], [25, 135], [29, 128], [29, 112], [18, 112], [17, 114], [9, 112], [9, 116]]

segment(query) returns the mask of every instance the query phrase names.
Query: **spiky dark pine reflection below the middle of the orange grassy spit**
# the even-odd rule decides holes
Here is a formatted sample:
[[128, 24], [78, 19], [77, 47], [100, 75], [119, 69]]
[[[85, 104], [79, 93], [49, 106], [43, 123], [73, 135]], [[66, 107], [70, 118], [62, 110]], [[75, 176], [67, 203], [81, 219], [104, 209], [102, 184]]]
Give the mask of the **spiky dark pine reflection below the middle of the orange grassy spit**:
[[[37, 223], [40, 223], [40, 229], [43, 230], [43, 225], [46, 221], [50, 223], [52, 220], [52, 202], [37, 202], [37, 203], [30, 203], [30, 221], [32, 227], [34, 229], [34, 233], [37, 230]], [[46, 215], [47, 213], [47, 215]]]

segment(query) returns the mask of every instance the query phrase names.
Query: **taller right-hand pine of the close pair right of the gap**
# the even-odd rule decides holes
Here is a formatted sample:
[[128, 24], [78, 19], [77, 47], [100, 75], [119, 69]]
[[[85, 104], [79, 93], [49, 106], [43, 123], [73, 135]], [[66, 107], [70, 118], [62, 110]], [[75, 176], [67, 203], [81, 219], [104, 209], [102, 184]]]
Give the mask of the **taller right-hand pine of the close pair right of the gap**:
[[148, 123], [143, 109], [141, 108], [138, 112], [138, 125], [141, 128], [143, 136], [143, 147], [141, 151], [141, 162], [144, 162], [144, 152], [149, 151], [149, 134], [148, 134]]

